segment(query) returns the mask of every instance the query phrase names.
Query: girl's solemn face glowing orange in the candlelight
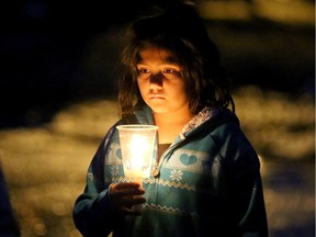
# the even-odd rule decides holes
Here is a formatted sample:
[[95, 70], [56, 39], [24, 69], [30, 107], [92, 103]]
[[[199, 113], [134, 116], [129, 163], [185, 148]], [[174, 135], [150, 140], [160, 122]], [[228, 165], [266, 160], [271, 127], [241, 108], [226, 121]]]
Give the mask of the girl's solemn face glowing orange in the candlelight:
[[145, 48], [139, 55], [137, 83], [143, 100], [155, 113], [188, 113], [187, 84], [176, 57], [157, 47]]

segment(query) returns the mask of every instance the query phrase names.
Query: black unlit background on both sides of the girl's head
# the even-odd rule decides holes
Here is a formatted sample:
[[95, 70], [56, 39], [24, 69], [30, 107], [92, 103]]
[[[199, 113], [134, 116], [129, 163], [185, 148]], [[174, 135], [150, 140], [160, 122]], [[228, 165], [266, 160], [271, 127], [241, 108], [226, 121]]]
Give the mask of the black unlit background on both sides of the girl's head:
[[[0, 128], [41, 125], [72, 101], [115, 97], [124, 25], [150, 2], [29, 0], [2, 5]], [[234, 88], [255, 84], [293, 98], [315, 95], [314, 25], [258, 16], [205, 23]]]

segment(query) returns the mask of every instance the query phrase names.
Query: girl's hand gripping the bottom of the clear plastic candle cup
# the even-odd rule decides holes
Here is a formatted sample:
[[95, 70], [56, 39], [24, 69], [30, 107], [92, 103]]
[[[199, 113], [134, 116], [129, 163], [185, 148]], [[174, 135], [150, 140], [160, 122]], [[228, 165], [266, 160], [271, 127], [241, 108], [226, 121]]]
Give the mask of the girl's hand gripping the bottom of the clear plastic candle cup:
[[140, 212], [133, 205], [143, 204], [146, 199], [142, 196], [145, 190], [137, 182], [122, 182], [111, 185], [110, 195], [115, 207], [123, 214], [139, 215]]

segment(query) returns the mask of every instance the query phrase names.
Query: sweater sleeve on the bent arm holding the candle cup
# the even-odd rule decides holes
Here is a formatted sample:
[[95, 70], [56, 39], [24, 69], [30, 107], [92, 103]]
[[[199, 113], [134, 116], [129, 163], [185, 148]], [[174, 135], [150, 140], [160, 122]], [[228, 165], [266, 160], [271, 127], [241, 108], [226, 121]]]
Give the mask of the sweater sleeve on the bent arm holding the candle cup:
[[103, 173], [104, 157], [113, 131], [114, 126], [100, 144], [88, 168], [84, 191], [76, 200], [72, 210], [75, 225], [84, 237], [108, 236], [119, 217], [110, 196], [110, 185], [104, 183]]

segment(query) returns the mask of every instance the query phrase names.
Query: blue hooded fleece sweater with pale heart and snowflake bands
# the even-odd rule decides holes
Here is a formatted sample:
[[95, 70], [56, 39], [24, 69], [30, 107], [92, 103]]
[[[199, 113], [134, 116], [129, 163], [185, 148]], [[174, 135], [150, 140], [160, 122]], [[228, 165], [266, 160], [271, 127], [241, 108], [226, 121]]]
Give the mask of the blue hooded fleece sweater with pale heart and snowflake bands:
[[[147, 106], [135, 116], [154, 124]], [[183, 127], [161, 155], [159, 176], [144, 180], [140, 216], [119, 214], [109, 194], [111, 183], [128, 181], [116, 129], [123, 123], [100, 144], [75, 203], [74, 221], [83, 236], [268, 236], [259, 158], [234, 113], [206, 108]]]

